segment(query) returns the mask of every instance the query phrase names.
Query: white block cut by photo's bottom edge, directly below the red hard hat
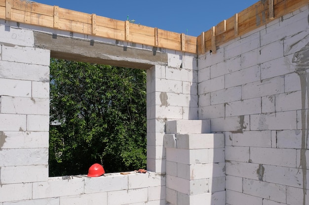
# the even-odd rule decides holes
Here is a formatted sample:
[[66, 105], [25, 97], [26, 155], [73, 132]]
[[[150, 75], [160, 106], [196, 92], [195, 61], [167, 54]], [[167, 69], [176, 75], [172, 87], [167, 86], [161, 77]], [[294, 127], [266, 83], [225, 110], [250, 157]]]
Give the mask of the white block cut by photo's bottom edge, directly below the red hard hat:
[[60, 197], [60, 205], [106, 205], [107, 193], [81, 194], [77, 196]]

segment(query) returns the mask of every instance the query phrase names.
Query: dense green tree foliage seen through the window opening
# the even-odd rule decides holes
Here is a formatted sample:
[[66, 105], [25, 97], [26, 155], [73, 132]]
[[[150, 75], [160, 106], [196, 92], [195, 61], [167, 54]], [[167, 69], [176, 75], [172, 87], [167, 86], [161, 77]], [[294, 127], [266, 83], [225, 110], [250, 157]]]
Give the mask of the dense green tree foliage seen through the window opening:
[[50, 121], [50, 176], [145, 168], [146, 72], [51, 59]]

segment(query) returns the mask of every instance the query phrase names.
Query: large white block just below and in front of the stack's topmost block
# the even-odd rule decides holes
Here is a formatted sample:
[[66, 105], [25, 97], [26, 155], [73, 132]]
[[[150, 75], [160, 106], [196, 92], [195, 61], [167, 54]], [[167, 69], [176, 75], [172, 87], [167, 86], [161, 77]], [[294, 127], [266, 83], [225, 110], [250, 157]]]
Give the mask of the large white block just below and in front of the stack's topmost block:
[[205, 149], [224, 147], [223, 134], [177, 134], [178, 149]]

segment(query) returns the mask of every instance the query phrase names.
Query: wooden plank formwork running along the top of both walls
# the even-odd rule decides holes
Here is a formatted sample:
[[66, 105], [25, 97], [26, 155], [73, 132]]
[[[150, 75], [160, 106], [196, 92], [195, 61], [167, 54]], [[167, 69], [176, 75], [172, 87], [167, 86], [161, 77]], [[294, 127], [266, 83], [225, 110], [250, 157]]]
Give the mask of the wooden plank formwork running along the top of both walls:
[[0, 0], [0, 19], [204, 54], [210, 50], [216, 53], [217, 46], [306, 4], [309, 0], [260, 0], [198, 37], [28, 0]]

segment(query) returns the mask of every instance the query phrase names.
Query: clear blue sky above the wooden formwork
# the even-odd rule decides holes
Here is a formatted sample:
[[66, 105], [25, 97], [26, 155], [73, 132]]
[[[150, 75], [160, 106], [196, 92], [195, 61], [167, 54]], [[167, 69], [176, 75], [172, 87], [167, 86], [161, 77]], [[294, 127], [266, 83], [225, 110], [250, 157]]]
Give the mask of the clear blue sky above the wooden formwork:
[[136, 24], [198, 36], [258, 0], [35, 0]]

